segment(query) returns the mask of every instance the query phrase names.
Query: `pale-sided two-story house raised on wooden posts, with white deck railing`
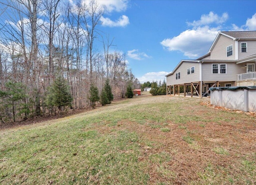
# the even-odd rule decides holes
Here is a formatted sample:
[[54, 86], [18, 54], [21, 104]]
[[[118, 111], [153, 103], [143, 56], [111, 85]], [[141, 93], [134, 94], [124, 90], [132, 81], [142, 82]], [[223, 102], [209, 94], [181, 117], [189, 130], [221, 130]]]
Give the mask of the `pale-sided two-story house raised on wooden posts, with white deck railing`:
[[181, 60], [166, 75], [167, 94], [199, 97], [210, 87], [256, 86], [256, 31], [219, 32], [208, 54]]

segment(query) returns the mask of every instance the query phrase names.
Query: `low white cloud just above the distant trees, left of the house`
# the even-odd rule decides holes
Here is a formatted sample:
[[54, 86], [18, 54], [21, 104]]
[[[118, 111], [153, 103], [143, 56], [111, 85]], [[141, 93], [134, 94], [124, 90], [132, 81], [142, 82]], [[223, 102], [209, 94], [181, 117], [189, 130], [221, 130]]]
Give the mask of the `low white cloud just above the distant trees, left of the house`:
[[142, 77], [138, 78], [138, 80], [140, 81], [141, 84], [143, 84], [144, 82], [159, 82], [161, 80], [161, 82], [163, 82], [163, 80], [166, 80], [166, 75], [169, 74], [168, 72], [165, 71], [161, 71], [161, 72], [150, 72], [150, 73], [146, 73], [144, 74]]

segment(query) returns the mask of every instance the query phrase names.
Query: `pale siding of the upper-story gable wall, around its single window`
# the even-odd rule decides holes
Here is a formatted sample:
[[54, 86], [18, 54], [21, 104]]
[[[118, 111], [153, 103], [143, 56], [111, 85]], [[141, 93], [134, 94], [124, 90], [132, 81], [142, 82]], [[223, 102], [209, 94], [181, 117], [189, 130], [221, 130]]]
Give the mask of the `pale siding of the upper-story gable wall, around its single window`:
[[[233, 45], [232, 56], [227, 57], [227, 47]], [[236, 42], [227, 36], [220, 35], [217, 43], [211, 52], [211, 60], [235, 60], [236, 59]]]

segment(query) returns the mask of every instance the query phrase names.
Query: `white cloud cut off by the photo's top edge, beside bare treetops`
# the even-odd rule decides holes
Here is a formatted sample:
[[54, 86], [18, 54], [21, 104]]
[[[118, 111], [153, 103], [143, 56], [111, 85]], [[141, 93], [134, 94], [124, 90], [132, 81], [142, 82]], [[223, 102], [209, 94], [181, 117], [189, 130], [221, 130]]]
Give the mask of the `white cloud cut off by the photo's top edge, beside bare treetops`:
[[128, 5], [127, 0], [98, 0], [97, 2], [108, 13], [125, 11]]

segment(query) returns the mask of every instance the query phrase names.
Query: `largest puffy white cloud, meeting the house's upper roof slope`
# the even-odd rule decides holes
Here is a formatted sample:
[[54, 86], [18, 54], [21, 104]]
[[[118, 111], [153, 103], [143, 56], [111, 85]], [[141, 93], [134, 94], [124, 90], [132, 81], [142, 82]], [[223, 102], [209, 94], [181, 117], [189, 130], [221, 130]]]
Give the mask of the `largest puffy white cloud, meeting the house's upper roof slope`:
[[180, 51], [189, 58], [198, 58], [208, 52], [218, 29], [204, 26], [186, 30], [174, 38], [164, 39], [160, 44], [169, 51]]

